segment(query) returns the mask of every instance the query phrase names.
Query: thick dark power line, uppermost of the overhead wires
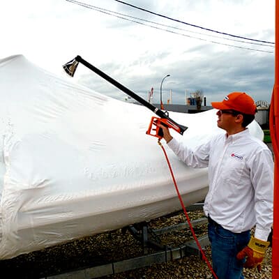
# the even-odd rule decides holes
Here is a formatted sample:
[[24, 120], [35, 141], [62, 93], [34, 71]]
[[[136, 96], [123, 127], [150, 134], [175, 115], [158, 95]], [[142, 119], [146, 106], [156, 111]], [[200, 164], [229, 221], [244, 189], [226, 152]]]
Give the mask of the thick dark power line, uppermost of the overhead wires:
[[136, 8], [138, 10], [143, 10], [144, 12], [146, 13], [151, 13], [152, 15], [158, 15], [159, 17], [164, 17], [164, 18], [167, 18], [167, 20], [173, 20], [174, 22], [179, 22], [179, 23], [182, 23], [182, 24], [186, 24], [186, 25], [189, 25], [191, 27], [197, 27], [199, 29], [204, 29], [206, 31], [211, 31], [211, 32], [215, 32], [215, 33], [220, 33], [220, 34], [223, 34], [223, 35], [226, 35], [226, 36], [232, 36], [234, 38], [241, 38], [241, 39], [244, 39], [244, 40], [252, 40], [252, 41], [255, 41], [255, 42], [260, 42], [260, 43], [269, 43], [269, 44], [273, 44], [275, 45], [275, 43], [273, 42], [269, 42], [269, 41], [266, 41], [266, 40], [255, 40], [255, 39], [252, 39], [252, 38], [246, 38], [246, 37], [242, 37], [242, 36], [236, 36], [236, 35], [232, 35], [232, 34], [229, 34], [229, 33], [225, 33], [225, 32], [220, 32], [220, 31], [216, 31], [216, 30], [213, 30], [213, 29], [209, 29], [209, 28], [205, 28], [205, 27], [200, 27], [198, 25], [195, 25], [195, 24], [190, 24], [188, 22], [183, 22], [181, 20], [175, 20], [174, 18], [172, 17], [167, 17], [166, 15], [160, 15], [158, 13], [154, 13], [152, 12], [151, 10], [146, 10], [144, 8], [140, 8], [138, 6], [135, 6], [135, 5], [132, 5], [130, 3], [126, 3], [126, 2], [123, 2], [123, 1], [119, 1], [119, 0], [114, 0], [116, 2], [119, 2], [119, 3], [122, 3], [124, 5], [127, 5], [127, 6], [130, 6], [132, 8]]

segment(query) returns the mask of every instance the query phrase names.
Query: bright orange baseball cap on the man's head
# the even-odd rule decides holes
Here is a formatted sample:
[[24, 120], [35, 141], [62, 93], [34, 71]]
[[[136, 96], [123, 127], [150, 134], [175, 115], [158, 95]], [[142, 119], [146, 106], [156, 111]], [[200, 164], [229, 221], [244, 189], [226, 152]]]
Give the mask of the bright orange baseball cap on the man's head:
[[211, 105], [217, 110], [236, 110], [243, 114], [255, 115], [257, 112], [254, 100], [245, 92], [229, 93], [222, 102], [212, 102]]

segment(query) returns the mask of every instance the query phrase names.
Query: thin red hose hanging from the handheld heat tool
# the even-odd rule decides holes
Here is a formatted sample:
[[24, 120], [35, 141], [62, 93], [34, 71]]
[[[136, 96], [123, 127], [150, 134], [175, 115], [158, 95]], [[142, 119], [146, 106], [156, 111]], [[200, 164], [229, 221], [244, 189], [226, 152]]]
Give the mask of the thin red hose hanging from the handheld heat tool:
[[211, 266], [209, 260], [207, 259], [206, 255], [204, 254], [204, 250], [202, 250], [202, 246], [200, 246], [199, 240], [197, 239], [197, 236], [196, 236], [196, 234], [195, 234], [195, 232], [194, 232], [194, 229], [193, 229], [193, 226], [192, 226], [192, 224], [191, 224], [190, 218], [189, 218], [188, 213], [187, 213], [187, 211], [186, 211], [186, 207], [185, 207], [185, 205], [184, 205], [184, 203], [183, 203], [183, 199], [182, 199], [182, 197], [181, 197], [181, 195], [180, 195], [180, 193], [179, 193], [179, 188], [177, 187], [176, 179], [175, 179], [175, 177], [174, 177], [174, 173], [172, 172], [172, 166], [170, 165], [170, 163], [169, 163], [169, 158], [167, 157], [167, 152], [165, 151], [165, 148], [164, 148], [164, 146], [161, 144], [160, 140], [158, 140], [158, 144], [162, 147], [163, 152], [164, 152], [164, 154], [165, 154], [165, 158], [166, 158], [166, 160], [167, 160], [167, 165], [169, 166], [169, 171], [170, 171], [170, 173], [172, 174], [172, 180], [174, 181], [174, 186], [175, 186], [175, 189], [176, 189], [176, 193], [177, 193], [177, 195], [178, 195], [178, 197], [179, 197], [179, 201], [180, 201], [181, 207], [182, 207], [182, 209], [183, 209], [183, 211], [184, 211], [184, 214], [185, 214], [185, 216], [186, 216], [188, 225], [189, 225], [190, 230], [191, 230], [191, 232], [192, 232], [192, 234], [193, 234], [193, 236], [194, 236], [195, 242], [197, 243], [197, 247], [199, 248], [199, 252], [201, 252], [201, 254], [202, 254], [202, 259], [204, 260], [204, 262], [206, 262], [207, 266], [209, 266], [209, 269], [211, 270], [211, 273], [212, 273], [213, 277], [216, 278], [216, 279], [218, 279], [218, 277], [216, 276], [216, 273], [213, 271], [213, 268], [212, 268], [212, 266]]

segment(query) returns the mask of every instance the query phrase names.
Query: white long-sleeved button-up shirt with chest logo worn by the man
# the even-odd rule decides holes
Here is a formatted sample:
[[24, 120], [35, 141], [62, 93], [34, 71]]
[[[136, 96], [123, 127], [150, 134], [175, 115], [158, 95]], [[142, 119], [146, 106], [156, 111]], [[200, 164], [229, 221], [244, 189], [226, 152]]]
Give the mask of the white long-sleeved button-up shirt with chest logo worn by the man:
[[176, 139], [168, 144], [186, 165], [209, 167], [204, 213], [231, 232], [256, 225], [255, 238], [266, 241], [273, 223], [273, 158], [269, 148], [246, 129], [218, 134], [190, 150]]

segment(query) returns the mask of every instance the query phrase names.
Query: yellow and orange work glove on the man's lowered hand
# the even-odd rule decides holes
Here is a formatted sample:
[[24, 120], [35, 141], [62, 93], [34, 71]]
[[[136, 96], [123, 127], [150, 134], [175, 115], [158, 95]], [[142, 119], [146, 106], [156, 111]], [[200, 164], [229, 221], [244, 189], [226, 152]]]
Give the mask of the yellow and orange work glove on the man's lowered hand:
[[248, 246], [243, 248], [237, 255], [237, 259], [246, 258], [246, 262], [243, 264], [244, 267], [254, 268], [257, 266], [257, 271], [262, 269], [262, 261], [264, 259], [264, 253], [269, 247], [269, 241], [262, 241], [260, 239], [255, 239], [251, 237]]

